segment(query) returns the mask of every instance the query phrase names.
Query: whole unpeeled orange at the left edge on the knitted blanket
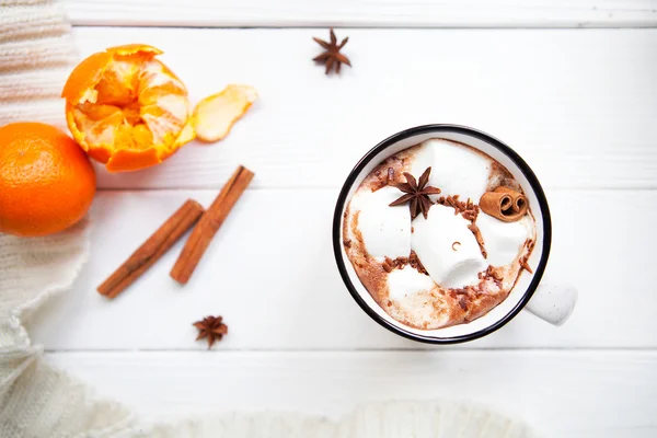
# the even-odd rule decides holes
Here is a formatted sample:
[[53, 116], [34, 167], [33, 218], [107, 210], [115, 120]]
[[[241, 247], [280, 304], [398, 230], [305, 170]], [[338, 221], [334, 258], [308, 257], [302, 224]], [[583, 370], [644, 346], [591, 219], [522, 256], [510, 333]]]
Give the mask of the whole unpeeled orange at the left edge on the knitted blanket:
[[95, 171], [66, 134], [41, 123], [0, 127], [0, 232], [62, 231], [84, 217], [94, 194]]

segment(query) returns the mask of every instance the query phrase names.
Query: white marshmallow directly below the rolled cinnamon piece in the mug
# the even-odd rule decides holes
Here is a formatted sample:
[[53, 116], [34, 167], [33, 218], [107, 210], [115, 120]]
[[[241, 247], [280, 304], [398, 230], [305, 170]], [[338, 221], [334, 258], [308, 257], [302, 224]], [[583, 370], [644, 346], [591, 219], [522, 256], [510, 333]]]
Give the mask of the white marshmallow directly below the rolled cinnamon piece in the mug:
[[488, 253], [487, 262], [493, 266], [511, 264], [527, 239], [533, 237], [529, 215], [516, 222], [503, 222], [481, 211], [476, 218], [476, 226], [482, 232], [484, 247]]

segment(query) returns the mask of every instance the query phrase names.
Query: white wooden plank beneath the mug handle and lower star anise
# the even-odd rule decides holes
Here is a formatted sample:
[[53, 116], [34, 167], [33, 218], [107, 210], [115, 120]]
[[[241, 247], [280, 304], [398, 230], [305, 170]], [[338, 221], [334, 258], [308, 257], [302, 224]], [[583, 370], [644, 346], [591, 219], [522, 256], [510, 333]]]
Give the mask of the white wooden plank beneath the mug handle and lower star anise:
[[[380, 327], [348, 295], [330, 240], [335, 191], [247, 191], [186, 287], [169, 277], [178, 242], [116, 300], [95, 292], [184, 199], [208, 205], [215, 196], [101, 192], [91, 260], [72, 292], [43, 309], [35, 342], [55, 350], [204, 349], [192, 323], [221, 314], [230, 326], [222, 350], [428, 348]], [[548, 274], [580, 290], [570, 321], [556, 328], [522, 313], [457, 348], [657, 347], [657, 295], [649, 287], [657, 192], [548, 196], [554, 222]]]

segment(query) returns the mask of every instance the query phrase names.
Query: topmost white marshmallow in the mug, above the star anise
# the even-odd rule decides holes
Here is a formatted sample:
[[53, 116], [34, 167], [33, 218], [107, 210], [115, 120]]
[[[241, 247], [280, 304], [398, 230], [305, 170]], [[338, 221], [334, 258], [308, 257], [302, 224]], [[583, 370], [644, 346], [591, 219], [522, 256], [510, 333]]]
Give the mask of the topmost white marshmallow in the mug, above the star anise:
[[440, 196], [459, 195], [479, 204], [488, 186], [492, 161], [481, 153], [442, 139], [424, 141], [414, 155], [411, 173], [419, 177], [431, 166], [429, 185], [442, 191]]

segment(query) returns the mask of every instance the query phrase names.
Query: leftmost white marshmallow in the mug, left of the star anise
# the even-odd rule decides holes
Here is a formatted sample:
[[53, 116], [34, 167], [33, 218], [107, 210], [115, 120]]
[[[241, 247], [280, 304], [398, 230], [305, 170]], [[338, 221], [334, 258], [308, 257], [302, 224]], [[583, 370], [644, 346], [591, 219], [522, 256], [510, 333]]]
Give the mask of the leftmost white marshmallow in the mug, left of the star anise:
[[377, 192], [359, 191], [351, 199], [351, 215], [360, 211], [358, 230], [372, 257], [407, 257], [411, 253], [408, 207], [390, 207], [402, 195], [395, 187], [383, 187]]

